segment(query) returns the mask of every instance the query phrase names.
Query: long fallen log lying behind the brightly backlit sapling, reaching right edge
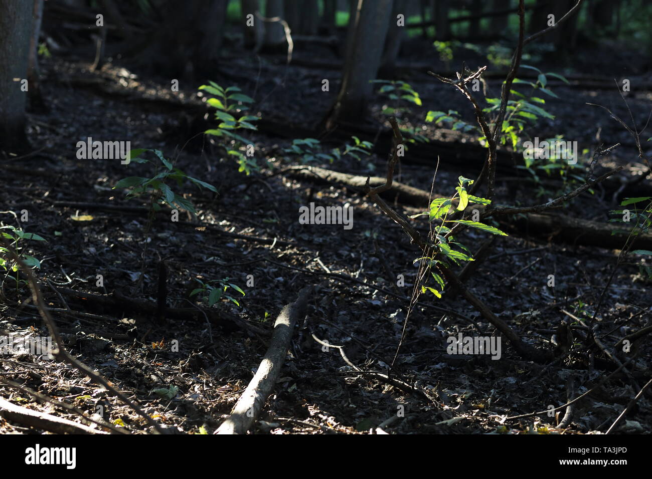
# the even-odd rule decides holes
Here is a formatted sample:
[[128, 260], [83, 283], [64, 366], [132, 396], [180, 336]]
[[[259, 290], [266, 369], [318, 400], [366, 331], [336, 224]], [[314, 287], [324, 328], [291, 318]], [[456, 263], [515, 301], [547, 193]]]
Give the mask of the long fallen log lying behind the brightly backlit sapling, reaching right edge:
[[[349, 188], [360, 188], [364, 186], [366, 177], [361, 175], [349, 175], [316, 166], [292, 166], [286, 170], [286, 175], [298, 179], [305, 179], [330, 184], [333, 182], [343, 184]], [[385, 179], [381, 177], [370, 178], [370, 186], [384, 184]], [[394, 181], [391, 188], [381, 193], [381, 196], [421, 207], [426, 209], [432, 199], [441, 195], [432, 194], [426, 190], [414, 188], [404, 183]], [[479, 209], [481, 205], [473, 205], [467, 209]], [[495, 219], [501, 225], [516, 229], [520, 233], [546, 236], [552, 240], [563, 240], [572, 244], [585, 246], [600, 246], [601, 248], [622, 248], [629, 233], [625, 233], [625, 227], [620, 223], [604, 223], [580, 218], [573, 218], [565, 214], [544, 214], [525, 213], [524, 219], [510, 220], [507, 216], [497, 216]], [[652, 233], [642, 233], [636, 240], [636, 248], [652, 248]]]

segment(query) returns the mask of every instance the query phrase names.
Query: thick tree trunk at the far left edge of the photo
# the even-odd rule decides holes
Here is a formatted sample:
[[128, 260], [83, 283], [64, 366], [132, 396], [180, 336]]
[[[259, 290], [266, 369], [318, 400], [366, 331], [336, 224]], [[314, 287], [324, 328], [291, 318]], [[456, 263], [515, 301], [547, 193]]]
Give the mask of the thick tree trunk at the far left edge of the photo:
[[27, 79], [33, 6], [25, 0], [0, 0], [0, 152], [29, 149], [25, 135], [27, 92], [21, 87]]

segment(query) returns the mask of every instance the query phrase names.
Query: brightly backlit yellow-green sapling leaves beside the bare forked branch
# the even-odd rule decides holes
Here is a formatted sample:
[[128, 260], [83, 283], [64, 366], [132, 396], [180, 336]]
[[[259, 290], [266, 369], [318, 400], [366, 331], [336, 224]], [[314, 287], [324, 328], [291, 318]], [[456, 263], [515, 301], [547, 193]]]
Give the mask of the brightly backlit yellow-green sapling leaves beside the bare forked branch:
[[[433, 254], [430, 257], [419, 257], [416, 261], [426, 261], [430, 274], [436, 281], [437, 285], [443, 291], [444, 281], [436, 272], [432, 271], [432, 267], [439, 265], [442, 268], [448, 268], [451, 263], [459, 265], [459, 261], [473, 261], [473, 257], [469, 254], [469, 250], [457, 242], [452, 237], [452, 227], [456, 224], [464, 224], [473, 228], [481, 229], [492, 235], [507, 236], [507, 233], [481, 222], [471, 220], [456, 220], [449, 219], [449, 215], [455, 210], [464, 211], [469, 203], [477, 203], [479, 205], [489, 205], [490, 200], [473, 195], [469, 195], [466, 191], [466, 186], [473, 184], [473, 180], [464, 177], [459, 177], [458, 186], [456, 186], [456, 193], [450, 198], [436, 198], [430, 202], [428, 211], [410, 216], [410, 218], [417, 218], [417, 216], [428, 215], [428, 220], [432, 224], [432, 239], [434, 239]], [[463, 250], [463, 251], [462, 251]], [[437, 298], [441, 298], [441, 291], [434, 287], [423, 285], [421, 287], [422, 293], [430, 291]]]

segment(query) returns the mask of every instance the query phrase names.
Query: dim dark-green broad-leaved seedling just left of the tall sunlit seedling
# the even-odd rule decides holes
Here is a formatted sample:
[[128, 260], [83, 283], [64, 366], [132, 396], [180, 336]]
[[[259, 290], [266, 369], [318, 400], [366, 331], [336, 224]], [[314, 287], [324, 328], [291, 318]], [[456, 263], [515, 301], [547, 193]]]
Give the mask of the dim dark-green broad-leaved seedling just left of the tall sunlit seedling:
[[[143, 152], [151, 151], [156, 155], [158, 161], [146, 160], [144, 158], [138, 158]], [[200, 181], [196, 178], [186, 175], [181, 169], [175, 168], [170, 160], [166, 160], [162, 152], [158, 150], [151, 149], [134, 149], [129, 152], [129, 157], [134, 163], [149, 163], [152, 164], [155, 168], [154, 176], [151, 178], [145, 177], [126, 177], [118, 181], [113, 189], [115, 188], [132, 188], [126, 194], [127, 198], [134, 198], [139, 196], [148, 196], [150, 199], [150, 213], [152, 216], [154, 212], [160, 211], [160, 205], [158, 203], [163, 203], [170, 205], [170, 207], [181, 208], [187, 211], [196, 213], [194, 206], [190, 200], [185, 197], [173, 192], [173, 190], [168, 185], [168, 182], [175, 181], [177, 186], [181, 186], [184, 181], [190, 181], [198, 188], [206, 188], [212, 192], [217, 192], [215, 186], [208, 184], [206, 182]]]

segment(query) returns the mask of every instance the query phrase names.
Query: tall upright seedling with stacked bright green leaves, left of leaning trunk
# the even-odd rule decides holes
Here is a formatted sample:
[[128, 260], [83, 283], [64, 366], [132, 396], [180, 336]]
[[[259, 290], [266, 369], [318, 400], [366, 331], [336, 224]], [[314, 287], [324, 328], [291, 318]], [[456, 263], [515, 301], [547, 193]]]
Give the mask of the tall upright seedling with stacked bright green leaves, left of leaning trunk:
[[[200, 90], [212, 94], [213, 97], [208, 98], [206, 103], [215, 108], [215, 119], [221, 123], [217, 128], [206, 130], [204, 133], [212, 136], [220, 136], [222, 138], [231, 139], [233, 145], [231, 148], [226, 149], [226, 154], [234, 156], [239, 166], [238, 171], [244, 171], [249, 175], [252, 171], [258, 170], [256, 160], [251, 156], [243, 154], [241, 149], [244, 149], [250, 142], [248, 139], [243, 138], [235, 133], [236, 130], [257, 130], [252, 121], [258, 121], [255, 115], [246, 115], [249, 109], [249, 104], [254, 102], [253, 98], [242, 94], [241, 89], [238, 87], [228, 87], [226, 89], [220, 87], [214, 81], [209, 81], [210, 85], [201, 85]], [[239, 115], [236, 118], [234, 115]]]

